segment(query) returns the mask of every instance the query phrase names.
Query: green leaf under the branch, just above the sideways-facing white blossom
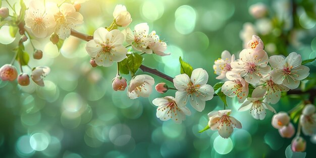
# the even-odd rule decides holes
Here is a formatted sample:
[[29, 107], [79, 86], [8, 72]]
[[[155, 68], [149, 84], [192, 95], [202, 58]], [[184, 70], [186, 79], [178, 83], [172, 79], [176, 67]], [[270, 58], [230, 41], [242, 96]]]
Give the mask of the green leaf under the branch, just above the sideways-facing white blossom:
[[143, 62], [143, 57], [133, 52], [132, 54], [127, 54], [127, 58], [119, 62], [119, 70], [122, 74], [135, 74], [141, 63]]

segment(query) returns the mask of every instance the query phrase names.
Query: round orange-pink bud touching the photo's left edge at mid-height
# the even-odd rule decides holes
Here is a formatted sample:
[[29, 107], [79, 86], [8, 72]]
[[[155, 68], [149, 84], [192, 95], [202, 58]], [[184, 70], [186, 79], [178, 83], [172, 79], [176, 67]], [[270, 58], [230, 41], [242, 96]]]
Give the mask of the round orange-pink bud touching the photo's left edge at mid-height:
[[3, 81], [14, 81], [18, 77], [18, 71], [15, 66], [6, 64], [0, 68], [0, 78]]

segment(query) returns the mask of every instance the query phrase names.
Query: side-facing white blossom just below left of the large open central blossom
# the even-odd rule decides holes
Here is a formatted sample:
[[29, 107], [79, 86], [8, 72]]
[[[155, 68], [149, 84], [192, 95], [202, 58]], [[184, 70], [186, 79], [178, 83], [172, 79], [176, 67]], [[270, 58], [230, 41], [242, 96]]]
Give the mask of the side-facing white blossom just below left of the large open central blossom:
[[172, 96], [155, 98], [152, 103], [158, 107], [156, 116], [162, 121], [172, 119], [175, 123], [181, 124], [186, 115], [191, 115], [187, 107], [178, 107], [175, 98]]

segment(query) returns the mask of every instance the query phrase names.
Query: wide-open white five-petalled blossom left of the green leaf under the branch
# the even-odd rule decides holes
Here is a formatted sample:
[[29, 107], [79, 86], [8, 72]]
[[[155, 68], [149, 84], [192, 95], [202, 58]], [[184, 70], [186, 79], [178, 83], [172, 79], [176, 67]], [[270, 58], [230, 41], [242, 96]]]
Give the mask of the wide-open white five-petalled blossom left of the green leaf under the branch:
[[93, 33], [93, 40], [87, 42], [86, 50], [90, 57], [95, 58], [97, 65], [109, 67], [115, 62], [126, 58], [127, 48], [123, 46], [124, 35], [119, 30], [100, 27]]

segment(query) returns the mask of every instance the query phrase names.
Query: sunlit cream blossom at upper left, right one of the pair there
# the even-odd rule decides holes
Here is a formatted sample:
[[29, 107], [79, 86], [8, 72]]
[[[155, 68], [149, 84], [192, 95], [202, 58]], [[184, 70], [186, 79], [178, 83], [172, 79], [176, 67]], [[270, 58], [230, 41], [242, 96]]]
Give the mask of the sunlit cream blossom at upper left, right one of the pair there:
[[72, 4], [63, 3], [59, 8], [59, 12], [55, 15], [55, 20], [57, 22], [55, 33], [58, 34], [60, 39], [66, 39], [70, 36], [71, 29], [83, 23], [83, 16], [76, 12]]

